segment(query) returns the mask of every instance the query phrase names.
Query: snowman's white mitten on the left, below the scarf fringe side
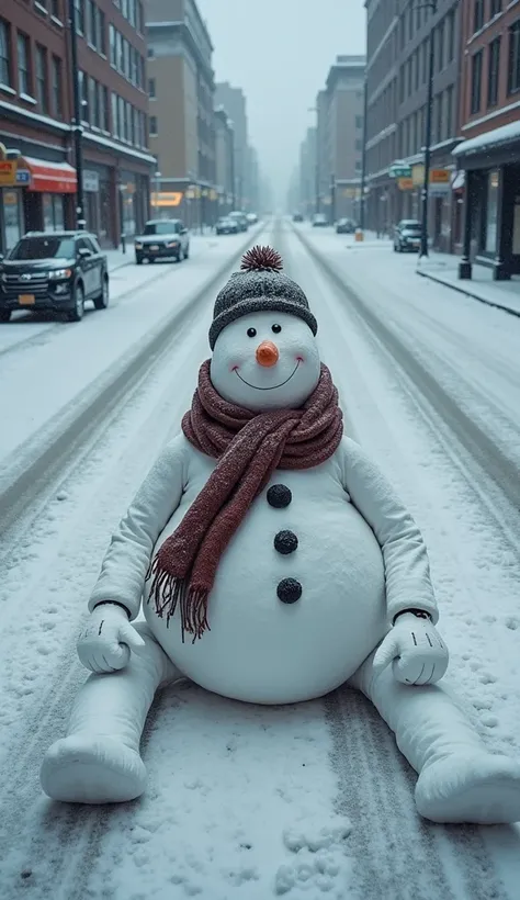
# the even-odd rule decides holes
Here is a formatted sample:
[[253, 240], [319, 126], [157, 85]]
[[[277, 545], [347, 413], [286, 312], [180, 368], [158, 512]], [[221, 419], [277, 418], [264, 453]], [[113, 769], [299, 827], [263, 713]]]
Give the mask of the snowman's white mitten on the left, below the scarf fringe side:
[[124, 668], [131, 649], [138, 651], [142, 646], [143, 638], [116, 604], [100, 604], [92, 610], [77, 644], [80, 662], [97, 675]]

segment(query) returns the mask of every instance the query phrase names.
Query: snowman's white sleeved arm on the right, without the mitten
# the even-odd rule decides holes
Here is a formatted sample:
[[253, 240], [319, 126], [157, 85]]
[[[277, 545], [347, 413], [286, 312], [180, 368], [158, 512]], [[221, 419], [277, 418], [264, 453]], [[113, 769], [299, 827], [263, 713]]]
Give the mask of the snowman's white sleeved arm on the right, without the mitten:
[[405, 609], [439, 620], [422, 536], [381, 470], [349, 438], [341, 443], [343, 487], [372, 528], [383, 552], [388, 626]]

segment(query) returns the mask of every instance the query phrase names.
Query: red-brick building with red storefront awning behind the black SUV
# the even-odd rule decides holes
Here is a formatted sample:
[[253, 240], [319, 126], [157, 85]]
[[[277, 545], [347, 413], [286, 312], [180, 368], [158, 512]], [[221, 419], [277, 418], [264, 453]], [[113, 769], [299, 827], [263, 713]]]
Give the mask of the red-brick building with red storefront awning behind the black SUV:
[[[76, 0], [88, 228], [104, 246], [148, 214], [146, 43], [139, 0]], [[75, 225], [68, 0], [3, 0], [0, 248], [29, 229]], [[9, 172], [9, 168], [11, 171]]]

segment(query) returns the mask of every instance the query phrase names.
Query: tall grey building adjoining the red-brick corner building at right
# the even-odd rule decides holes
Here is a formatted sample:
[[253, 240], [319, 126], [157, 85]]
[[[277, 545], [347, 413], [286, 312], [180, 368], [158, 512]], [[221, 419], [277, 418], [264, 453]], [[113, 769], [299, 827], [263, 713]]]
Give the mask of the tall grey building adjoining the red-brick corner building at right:
[[[366, 0], [368, 14], [368, 224], [389, 230], [399, 218], [420, 216], [423, 151], [433, 31], [433, 114], [429, 230], [442, 250], [456, 243], [457, 207], [451, 189], [457, 144], [461, 4], [438, 0]], [[394, 179], [393, 164], [408, 176]]]

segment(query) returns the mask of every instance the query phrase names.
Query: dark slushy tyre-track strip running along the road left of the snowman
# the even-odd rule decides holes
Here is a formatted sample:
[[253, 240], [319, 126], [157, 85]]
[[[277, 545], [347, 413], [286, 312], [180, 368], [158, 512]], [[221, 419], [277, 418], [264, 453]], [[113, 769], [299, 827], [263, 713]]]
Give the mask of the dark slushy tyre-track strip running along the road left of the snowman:
[[[20, 460], [20, 448], [15, 448], [5, 460], [2, 460], [3, 484], [0, 486], [0, 508], [2, 509], [2, 527], [8, 531], [22, 515], [25, 507], [34, 502], [46, 484], [57, 476], [70, 453], [76, 452], [84, 437], [99, 426], [106, 417], [106, 413], [115, 408], [128, 393], [131, 384], [143, 378], [150, 364], [170, 345], [172, 336], [179, 326], [179, 319], [193, 307], [199, 305], [223, 278], [233, 270], [242, 254], [265, 229], [256, 229], [249, 235], [247, 243], [240, 245], [239, 250], [229, 257], [225, 263], [202, 284], [196, 291], [186, 296], [181, 310], [167, 314], [150, 329], [149, 339], [145, 346], [139, 341], [129, 347], [118, 360], [114, 360], [112, 370], [101, 372], [91, 384], [87, 385], [64, 409], [29, 439], [25, 459]], [[95, 385], [99, 385], [95, 390]], [[74, 413], [70, 414], [70, 409]], [[31, 445], [33, 452], [31, 454]]]

